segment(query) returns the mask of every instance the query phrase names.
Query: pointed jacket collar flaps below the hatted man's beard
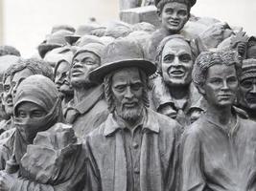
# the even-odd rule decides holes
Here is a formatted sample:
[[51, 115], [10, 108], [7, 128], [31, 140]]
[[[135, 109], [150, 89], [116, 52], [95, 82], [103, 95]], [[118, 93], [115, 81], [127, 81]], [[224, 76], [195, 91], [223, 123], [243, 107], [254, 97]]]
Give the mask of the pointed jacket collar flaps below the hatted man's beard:
[[[142, 130], [147, 129], [154, 133], [159, 133], [160, 127], [155, 117], [155, 114], [150, 109], [146, 109], [144, 112], [144, 117], [138, 125], [142, 125]], [[113, 114], [109, 114], [109, 116], [105, 120], [105, 137], [110, 136], [115, 133], [119, 129], [126, 128], [124, 124], [119, 124]]]

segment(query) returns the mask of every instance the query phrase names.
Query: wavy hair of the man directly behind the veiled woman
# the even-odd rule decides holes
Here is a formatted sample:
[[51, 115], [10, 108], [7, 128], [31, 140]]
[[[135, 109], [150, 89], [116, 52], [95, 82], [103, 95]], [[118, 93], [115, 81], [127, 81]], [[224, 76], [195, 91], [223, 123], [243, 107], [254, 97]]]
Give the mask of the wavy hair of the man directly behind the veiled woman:
[[24, 70], [29, 69], [33, 74], [42, 74], [51, 80], [54, 80], [54, 73], [52, 67], [48, 62], [45, 62], [42, 59], [37, 58], [29, 58], [29, 59], [22, 59], [20, 58], [17, 61], [17, 64], [12, 69], [11, 76], [13, 77], [14, 74]]

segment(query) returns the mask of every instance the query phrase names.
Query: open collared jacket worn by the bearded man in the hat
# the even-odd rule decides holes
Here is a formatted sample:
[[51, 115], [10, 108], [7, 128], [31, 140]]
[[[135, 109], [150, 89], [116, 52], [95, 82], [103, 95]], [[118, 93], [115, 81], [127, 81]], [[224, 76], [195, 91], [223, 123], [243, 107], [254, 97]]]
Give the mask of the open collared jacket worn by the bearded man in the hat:
[[[141, 191], [175, 191], [178, 177], [179, 125], [147, 109], [142, 126], [139, 179]], [[128, 190], [123, 129], [110, 114], [84, 143], [86, 191]]]

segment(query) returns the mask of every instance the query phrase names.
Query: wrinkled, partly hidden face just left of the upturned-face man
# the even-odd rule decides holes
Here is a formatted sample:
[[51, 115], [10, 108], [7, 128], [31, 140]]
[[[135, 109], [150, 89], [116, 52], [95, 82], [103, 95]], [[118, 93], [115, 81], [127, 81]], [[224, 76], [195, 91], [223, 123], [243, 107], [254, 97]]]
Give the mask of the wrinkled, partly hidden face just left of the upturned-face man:
[[64, 95], [72, 94], [73, 90], [70, 87], [70, 83], [68, 80], [70, 66], [67, 61], [62, 61], [56, 72], [55, 83], [57, 85], [58, 91]]

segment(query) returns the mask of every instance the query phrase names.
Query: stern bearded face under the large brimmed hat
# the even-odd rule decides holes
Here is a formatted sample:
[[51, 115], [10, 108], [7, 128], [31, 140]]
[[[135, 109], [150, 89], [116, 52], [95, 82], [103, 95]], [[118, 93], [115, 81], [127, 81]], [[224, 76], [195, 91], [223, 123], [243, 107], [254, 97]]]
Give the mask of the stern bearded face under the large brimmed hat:
[[117, 115], [136, 121], [143, 110], [143, 83], [138, 69], [127, 68], [113, 74], [111, 91]]

